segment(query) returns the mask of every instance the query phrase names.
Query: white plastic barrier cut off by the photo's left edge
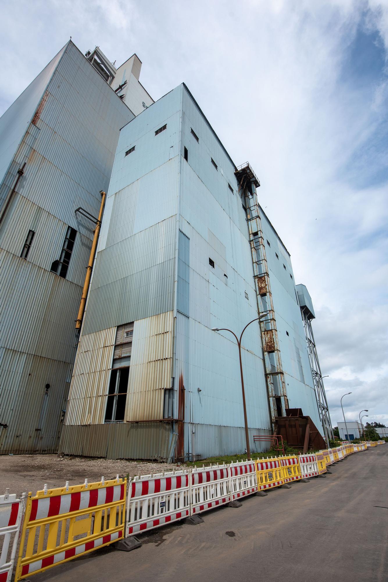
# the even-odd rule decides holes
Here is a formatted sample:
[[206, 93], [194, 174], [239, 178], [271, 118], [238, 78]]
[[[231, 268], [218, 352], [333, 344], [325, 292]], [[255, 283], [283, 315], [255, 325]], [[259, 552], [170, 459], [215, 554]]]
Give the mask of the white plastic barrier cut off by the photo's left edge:
[[6, 489], [5, 495], [0, 495], [0, 582], [10, 582], [12, 577], [22, 515], [22, 499]]

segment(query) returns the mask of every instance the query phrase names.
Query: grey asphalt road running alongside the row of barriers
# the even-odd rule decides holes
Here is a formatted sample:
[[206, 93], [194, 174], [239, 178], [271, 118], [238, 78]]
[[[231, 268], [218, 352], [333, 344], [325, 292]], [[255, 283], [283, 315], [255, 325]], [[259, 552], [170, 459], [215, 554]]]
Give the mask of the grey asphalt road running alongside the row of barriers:
[[202, 524], [153, 530], [132, 552], [101, 549], [31, 582], [388, 580], [388, 444], [330, 470], [240, 508], [211, 510]]

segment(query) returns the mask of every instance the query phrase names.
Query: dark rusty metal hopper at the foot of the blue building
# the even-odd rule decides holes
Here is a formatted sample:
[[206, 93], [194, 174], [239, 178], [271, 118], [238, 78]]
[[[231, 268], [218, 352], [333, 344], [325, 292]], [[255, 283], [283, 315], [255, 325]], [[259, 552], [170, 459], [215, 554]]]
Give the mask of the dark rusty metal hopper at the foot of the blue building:
[[276, 418], [275, 435], [281, 435], [295, 449], [325, 449], [326, 443], [309, 416], [303, 416], [300, 408], [286, 409], [286, 416]]

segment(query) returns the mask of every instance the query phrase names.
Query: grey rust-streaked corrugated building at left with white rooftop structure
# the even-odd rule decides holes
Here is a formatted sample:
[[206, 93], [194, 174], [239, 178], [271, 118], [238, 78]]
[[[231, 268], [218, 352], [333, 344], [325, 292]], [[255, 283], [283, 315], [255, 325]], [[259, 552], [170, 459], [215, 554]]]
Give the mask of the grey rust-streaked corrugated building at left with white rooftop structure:
[[69, 41], [0, 118], [0, 452], [55, 452], [74, 328], [120, 127], [153, 103]]

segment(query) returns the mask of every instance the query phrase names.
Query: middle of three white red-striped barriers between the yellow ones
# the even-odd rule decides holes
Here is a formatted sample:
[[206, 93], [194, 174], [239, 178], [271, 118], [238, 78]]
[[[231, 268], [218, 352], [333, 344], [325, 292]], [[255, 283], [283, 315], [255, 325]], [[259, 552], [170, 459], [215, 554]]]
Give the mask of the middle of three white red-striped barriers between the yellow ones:
[[193, 469], [191, 474], [192, 515], [231, 501], [228, 465]]

